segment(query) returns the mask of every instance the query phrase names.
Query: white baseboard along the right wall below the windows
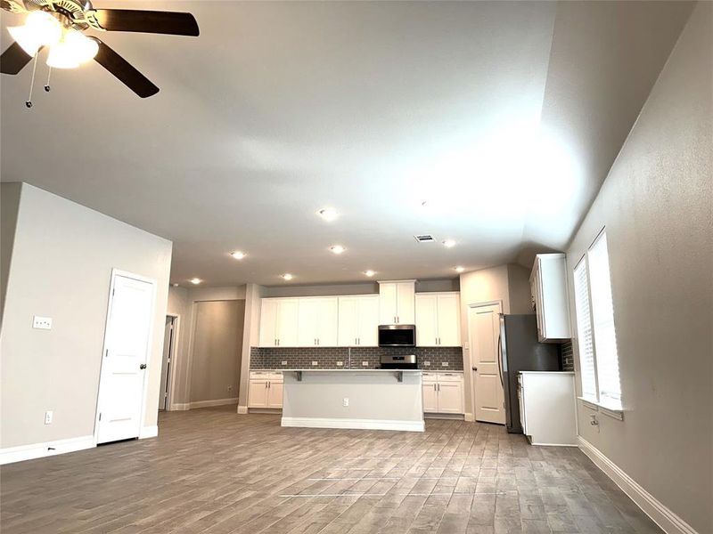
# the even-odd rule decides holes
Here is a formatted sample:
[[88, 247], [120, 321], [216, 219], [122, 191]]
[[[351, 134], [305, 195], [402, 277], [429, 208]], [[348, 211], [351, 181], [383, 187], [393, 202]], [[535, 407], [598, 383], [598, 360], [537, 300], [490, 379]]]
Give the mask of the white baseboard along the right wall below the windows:
[[602, 451], [596, 449], [589, 441], [582, 436], [578, 436], [579, 449], [586, 454], [594, 465], [599, 467], [619, 488], [626, 493], [643, 513], [652, 518], [660, 528], [667, 534], [697, 534], [693, 527], [683, 519], [678, 517], [659, 499], [644, 490], [633, 478], [625, 473], [619, 465], [614, 464]]

